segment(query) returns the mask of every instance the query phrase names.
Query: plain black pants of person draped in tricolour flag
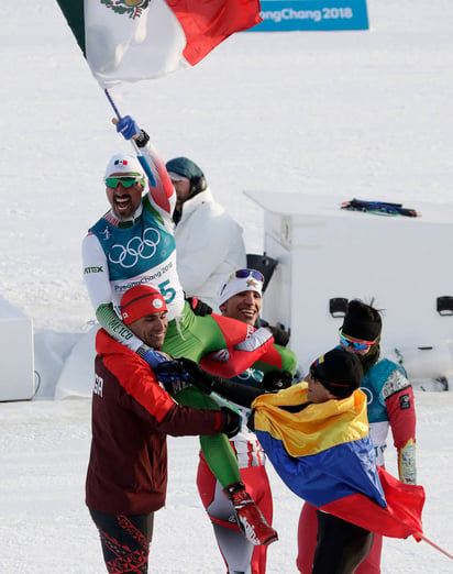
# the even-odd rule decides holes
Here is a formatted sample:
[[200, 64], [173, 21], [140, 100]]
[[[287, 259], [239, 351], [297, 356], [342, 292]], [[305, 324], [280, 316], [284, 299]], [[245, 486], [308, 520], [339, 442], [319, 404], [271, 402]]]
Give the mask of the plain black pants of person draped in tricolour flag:
[[374, 533], [317, 510], [318, 539], [312, 574], [353, 574], [372, 549]]

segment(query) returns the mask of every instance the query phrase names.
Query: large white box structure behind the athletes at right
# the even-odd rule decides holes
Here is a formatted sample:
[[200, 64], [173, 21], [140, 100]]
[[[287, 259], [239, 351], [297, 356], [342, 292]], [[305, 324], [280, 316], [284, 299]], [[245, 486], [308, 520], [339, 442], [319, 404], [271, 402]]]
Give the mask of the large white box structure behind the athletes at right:
[[453, 205], [405, 203], [421, 213], [410, 218], [347, 211], [338, 197], [246, 195], [264, 209], [264, 251], [279, 262], [263, 318], [291, 329], [303, 368], [338, 344], [333, 298], [375, 299], [384, 350], [453, 340], [453, 314], [437, 310], [438, 297], [453, 297]]

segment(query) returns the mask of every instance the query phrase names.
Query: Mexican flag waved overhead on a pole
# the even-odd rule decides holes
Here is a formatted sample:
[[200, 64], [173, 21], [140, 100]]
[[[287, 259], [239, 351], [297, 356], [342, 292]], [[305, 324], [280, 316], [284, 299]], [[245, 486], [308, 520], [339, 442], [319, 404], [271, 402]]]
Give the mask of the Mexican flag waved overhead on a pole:
[[195, 66], [258, 24], [259, 0], [57, 0], [102, 88]]

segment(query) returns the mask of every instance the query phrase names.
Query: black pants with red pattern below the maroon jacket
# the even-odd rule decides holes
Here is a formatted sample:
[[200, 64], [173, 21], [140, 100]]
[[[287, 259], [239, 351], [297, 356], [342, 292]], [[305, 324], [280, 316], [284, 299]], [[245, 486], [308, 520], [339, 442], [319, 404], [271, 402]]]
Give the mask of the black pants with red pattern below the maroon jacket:
[[89, 509], [99, 530], [103, 560], [109, 574], [147, 574], [154, 512], [148, 515], [106, 515]]

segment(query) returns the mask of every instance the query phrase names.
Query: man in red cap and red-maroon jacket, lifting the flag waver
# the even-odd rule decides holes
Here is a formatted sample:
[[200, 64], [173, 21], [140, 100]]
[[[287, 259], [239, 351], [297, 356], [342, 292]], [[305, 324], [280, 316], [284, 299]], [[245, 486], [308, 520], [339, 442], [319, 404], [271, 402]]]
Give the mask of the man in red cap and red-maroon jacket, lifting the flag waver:
[[[150, 347], [162, 347], [167, 306], [157, 289], [129, 289], [121, 299], [121, 314]], [[103, 329], [96, 349], [86, 504], [99, 530], [108, 572], [146, 573], [154, 512], [165, 504], [166, 435], [233, 435], [240, 417], [225, 407], [178, 405], [147, 363]]]

